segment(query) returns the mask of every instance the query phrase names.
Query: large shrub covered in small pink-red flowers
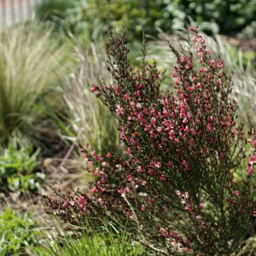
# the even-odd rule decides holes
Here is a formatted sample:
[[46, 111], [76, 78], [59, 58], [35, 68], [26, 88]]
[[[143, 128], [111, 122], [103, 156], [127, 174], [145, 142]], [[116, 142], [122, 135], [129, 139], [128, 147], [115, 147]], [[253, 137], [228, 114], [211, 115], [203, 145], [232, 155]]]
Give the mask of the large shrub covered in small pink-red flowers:
[[127, 231], [162, 255], [232, 255], [254, 235], [256, 156], [249, 157], [246, 179], [234, 179], [245, 139], [229, 99], [230, 77], [197, 29], [191, 32], [187, 51], [170, 46], [177, 94], [160, 91], [156, 63], [129, 65], [125, 32], [110, 34], [113, 85], [92, 91], [119, 120], [127, 157], [83, 150], [96, 177], [91, 193], [45, 197], [66, 222], [100, 228], [102, 220], [129, 220]]

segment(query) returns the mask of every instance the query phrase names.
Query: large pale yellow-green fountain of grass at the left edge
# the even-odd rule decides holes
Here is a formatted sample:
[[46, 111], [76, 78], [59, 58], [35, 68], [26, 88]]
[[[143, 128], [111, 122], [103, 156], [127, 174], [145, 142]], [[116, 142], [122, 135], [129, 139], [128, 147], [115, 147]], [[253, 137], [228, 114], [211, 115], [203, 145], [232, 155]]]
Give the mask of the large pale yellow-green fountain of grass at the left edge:
[[64, 57], [64, 46], [51, 30], [18, 26], [0, 35], [0, 141], [14, 130], [30, 133], [38, 117], [36, 104], [54, 86]]

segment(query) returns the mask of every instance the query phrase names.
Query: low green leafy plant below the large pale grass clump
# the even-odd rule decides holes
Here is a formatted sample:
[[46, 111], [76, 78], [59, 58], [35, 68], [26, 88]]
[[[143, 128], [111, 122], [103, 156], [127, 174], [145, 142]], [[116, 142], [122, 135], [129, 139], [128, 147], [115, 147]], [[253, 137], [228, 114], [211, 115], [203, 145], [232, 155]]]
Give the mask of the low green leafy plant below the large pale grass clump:
[[40, 187], [44, 174], [36, 172], [40, 150], [34, 152], [32, 144], [22, 146], [15, 139], [0, 154], [1, 191], [33, 191]]

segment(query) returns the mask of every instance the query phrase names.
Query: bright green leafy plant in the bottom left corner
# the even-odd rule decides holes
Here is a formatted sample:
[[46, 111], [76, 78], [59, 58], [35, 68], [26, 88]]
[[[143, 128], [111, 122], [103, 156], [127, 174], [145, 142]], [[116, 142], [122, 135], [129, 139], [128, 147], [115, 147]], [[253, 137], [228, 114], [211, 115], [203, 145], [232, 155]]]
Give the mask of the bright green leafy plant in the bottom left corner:
[[30, 214], [20, 217], [11, 208], [0, 215], [0, 255], [29, 255], [39, 245], [39, 232]]

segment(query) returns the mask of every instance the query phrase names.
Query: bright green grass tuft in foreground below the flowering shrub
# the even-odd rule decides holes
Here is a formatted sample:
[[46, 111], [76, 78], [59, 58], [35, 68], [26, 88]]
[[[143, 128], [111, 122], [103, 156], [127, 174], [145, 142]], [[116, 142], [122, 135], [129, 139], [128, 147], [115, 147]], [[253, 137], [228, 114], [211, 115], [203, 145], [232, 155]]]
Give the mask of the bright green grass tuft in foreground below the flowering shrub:
[[[94, 230], [88, 220], [88, 228], [62, 222], [57, 216], [40, 219], [42, 228], [41, 245], [33, 247], [37, 256], [139, 256], [145, 255], [145, 248], [120, 223], [102, 221], [100, 229]], [[120, 230], [121, 228], [121, 230]], [[147, 254], [150, 255], [150, 254]]]

